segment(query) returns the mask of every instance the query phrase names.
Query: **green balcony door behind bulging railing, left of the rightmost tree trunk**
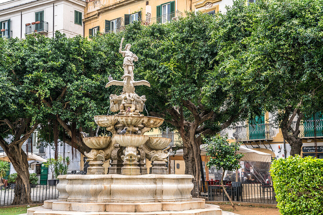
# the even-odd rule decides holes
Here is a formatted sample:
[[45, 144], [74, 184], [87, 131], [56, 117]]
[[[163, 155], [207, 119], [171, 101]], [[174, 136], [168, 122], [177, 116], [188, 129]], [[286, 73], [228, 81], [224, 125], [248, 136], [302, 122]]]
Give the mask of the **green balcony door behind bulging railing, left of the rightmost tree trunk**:
[[256, 116], [249, 120], [249, 139], [250, 140], [263, 140], [265, 136], [266, 124], [265, 117]]

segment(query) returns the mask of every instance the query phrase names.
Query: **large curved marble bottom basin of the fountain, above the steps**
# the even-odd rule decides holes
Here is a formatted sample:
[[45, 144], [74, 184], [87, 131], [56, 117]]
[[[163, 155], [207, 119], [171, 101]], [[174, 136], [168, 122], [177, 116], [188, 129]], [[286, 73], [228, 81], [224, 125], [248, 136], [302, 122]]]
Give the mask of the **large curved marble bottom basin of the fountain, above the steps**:
[[70, 202], [190, 200], [192, 175], [60, 175], [58, 199]]

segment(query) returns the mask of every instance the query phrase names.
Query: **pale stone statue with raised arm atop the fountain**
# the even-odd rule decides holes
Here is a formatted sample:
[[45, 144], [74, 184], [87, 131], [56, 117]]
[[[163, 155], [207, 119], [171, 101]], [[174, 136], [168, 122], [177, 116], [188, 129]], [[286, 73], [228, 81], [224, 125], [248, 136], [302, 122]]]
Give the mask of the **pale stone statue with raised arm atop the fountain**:
[[[124, 38], [122, 37], [121, 43], [120, 43], [120, 48], [119, 48], [119, 53], [121, 53], [122, 57], [124, 57], [123, 64], [122, 64], [123, 69], [124, 69], [124, 74], [130, 74], [131, 81], [134, 81], [133, 80], [133, 70], [135, 67], [133, 66], [133, 61], [138, 61], [138, 57], [137, 57], [137, 55], [130, 52], [131, 44], [129, 44], [129, 43], [126, 44], [126, 46], [124, 47], [125, 51], [122, 51], [123, 40], [124, 40]], [[125, 81], [125, 79], [123, 81]]]

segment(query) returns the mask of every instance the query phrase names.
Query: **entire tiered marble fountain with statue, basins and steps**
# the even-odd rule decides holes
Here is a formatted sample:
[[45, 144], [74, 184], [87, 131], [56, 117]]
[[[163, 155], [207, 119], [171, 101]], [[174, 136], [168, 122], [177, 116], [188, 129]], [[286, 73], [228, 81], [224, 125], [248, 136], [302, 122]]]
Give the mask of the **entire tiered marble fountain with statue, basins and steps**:
[[[171, 139], [144, 135], [158, 128], [163, 119], [144, 116], [146, 97], [135, 93], [135, 87], [147, 81], [134, 81], [133, 61], [138, 57], [130, 52], [130, 44], [119, 52], [124, 57], [123, 81], [111, 85], [123, 86], [120, 95], [110, 95], [110, 109], [115, 115], [94, 116], [99, 126], [112, 137], [86, 137], [91, 148], [85, 153], [89, 161], [87, 175], [61, 175], [57, 200], [46, 200], [41, 207], [30, 208], [27, 215], [101, 215], [101, 214], [196, 214], [221, 215], [216, 205], [204, 199], [192, 198], [192, 175], [167, 174], [167, 148]], [[146, 158], [152, 162], [147, 174]], [[110, 160], [109, 174], [104, 174], [103, 162]]]

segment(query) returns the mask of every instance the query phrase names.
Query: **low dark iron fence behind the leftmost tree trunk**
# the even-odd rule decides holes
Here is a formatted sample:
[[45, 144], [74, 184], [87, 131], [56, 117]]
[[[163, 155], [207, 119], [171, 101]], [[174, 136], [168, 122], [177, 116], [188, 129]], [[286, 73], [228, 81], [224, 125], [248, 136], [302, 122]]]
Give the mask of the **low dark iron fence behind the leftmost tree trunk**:
[[[8, 185], [10, 187], [10, 185]], [[15, 193], [19, 190], [25, 189], [25, 187], [10, 187], [5, 188], [1, 187], [0, 190], [0, 206], [7, 205], [18, 205], [13, 204]], [[43, 203], [45, 200], [57, 199], [58, 191], [56, 186], [47, 186], [47, 185], [36, 185], [35, 187], [27, 187], [31, 193], [31, 200], [33, 203]], [[25, 192], [24, 192], [25, 193]]]

